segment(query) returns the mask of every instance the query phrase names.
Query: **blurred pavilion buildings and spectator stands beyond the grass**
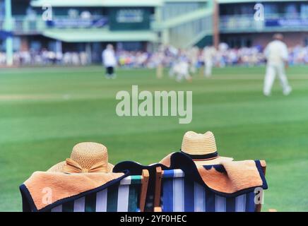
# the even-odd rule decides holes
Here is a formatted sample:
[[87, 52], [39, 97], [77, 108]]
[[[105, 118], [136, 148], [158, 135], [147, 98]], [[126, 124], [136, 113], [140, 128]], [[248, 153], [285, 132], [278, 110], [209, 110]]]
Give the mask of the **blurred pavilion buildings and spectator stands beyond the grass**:
[[[256, 3], [263, 20], [253, 19]], [[291, 63], [308, 62], [307, 1], [1, 0], [0, 12], [1, 65], [100, 64], [111, 43], [121, 66], [155, 66], [160, 44], [220, 42], [227, 63], [256, 64], [274, 32], [285, 35]]]

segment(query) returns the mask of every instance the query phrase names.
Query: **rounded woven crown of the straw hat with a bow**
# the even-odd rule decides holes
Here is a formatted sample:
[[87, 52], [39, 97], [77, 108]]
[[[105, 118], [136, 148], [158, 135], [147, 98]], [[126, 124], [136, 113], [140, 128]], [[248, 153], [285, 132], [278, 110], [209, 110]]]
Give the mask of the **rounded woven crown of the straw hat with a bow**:
[[98, 162], [108, 164], [108, 153], [105, 145], [95, 142], [78, 143], [73, 147], [71, 159], [78, 162], [84, 169], [90, 169]]

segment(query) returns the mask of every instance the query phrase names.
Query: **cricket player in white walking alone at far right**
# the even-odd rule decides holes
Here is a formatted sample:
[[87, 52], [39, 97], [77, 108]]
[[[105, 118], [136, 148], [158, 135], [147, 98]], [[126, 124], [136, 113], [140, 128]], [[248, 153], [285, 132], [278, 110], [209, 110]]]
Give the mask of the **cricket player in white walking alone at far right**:
[[283, 94], [289, 95], [292, 88], [288, 83], [287, 76], [285, 76], [285, 67], [288, 66], [288, 47], [283, 42], [283, 35], [276, 34], [273, 36], [273, 39], [264, 49], [267, 64], [263, 93], [266, 96], [271, 95], [273, 82], [275, 81], [276, 74], [278, 74], [280, 84], [283, 87]]

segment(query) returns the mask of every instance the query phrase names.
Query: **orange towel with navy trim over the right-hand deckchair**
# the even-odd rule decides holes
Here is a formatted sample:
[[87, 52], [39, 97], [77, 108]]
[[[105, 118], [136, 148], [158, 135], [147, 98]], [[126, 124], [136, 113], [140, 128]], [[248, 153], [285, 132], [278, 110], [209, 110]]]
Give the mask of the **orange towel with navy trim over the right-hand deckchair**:
[[[182, 153], [171, 153], [160, 164], [171, 169], [182, 169], [189, 178], [200, 179], [208, 188], [223, 194], [262, 187], [266, 180], [258, 160], [225, 161], [221, 165], [196, 166], [190, 157]], [[201, 181], [200, 181], [201, 182]]]

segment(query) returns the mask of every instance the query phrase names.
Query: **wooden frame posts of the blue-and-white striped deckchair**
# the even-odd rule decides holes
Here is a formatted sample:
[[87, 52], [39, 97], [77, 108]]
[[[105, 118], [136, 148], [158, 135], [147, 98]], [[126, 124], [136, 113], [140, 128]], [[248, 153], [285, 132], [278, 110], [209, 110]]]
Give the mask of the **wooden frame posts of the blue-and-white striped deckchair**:
[[[264, 175], [266, 174], [266, 161], [260, 160], [262, 171]], [[162, 208], [160, 206], [160, 196], [162, 189], [162, 174], [164, 171], [162, 167], [156, 167], [156, 177], [155, 177], [155, 194], [154, 194], [154, 212], [162, 212]], [[261, 198], [263, 198], [263, 191], [261, 191]], [[256, 204], [255, 212], [261, 212], [262, 204]]]

